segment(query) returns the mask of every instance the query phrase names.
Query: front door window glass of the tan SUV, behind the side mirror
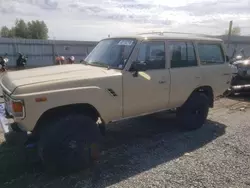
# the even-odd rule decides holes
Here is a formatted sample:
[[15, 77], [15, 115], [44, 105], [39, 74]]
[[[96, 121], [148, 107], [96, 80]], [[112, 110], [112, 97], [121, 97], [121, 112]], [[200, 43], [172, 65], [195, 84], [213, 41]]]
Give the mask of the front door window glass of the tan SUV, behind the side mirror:
[[148, 70], [165, 69], [165, 42], [147, 41], [140, 44], [137, 61], [147, 64]]

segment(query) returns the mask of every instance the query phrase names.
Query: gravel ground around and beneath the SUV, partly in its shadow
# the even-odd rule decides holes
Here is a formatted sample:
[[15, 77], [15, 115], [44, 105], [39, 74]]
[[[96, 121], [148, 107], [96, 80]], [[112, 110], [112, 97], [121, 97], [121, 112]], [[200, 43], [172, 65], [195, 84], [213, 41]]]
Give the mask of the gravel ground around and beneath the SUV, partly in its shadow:
[[[0, 146], [0, 187], [250, 187], [250, 102], [220, 99], [200, 130], [182, 132], [171, 117], [109, 126], [96, 168], [49, 177], [23, 148]], [[250, 98], [250, 97], [249, 97]]]

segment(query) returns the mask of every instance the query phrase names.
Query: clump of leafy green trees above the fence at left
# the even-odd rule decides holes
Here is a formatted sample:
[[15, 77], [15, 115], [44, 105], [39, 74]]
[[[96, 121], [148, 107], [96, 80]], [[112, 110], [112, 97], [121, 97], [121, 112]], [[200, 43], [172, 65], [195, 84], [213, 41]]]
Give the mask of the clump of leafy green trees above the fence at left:
[[6, 38], [26, 38], [26, 39], [48, 39], [49, 29], [44, 21], [30, 21], [25, 23], [22, 19], [17, 19], [15, 26], [9, 29], [4, 26], [1, 29], [1, 36]]

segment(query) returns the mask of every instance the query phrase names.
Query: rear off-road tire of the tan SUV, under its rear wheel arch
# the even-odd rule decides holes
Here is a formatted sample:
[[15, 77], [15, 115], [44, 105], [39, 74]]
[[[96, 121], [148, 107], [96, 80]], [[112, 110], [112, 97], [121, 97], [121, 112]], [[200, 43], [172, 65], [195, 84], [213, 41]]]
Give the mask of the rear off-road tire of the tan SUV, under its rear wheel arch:
[[185, 104], [177, 110], [177, 121], [184, 130], [201, 128], [208, 116], [209, 100], [203, 93], [193, 93]]

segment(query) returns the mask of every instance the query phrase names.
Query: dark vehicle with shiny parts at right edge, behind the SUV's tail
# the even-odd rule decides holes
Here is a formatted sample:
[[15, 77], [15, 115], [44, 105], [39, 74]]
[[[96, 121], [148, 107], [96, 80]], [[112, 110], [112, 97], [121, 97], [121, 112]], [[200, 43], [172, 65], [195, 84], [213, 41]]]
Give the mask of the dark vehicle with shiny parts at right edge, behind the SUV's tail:
[[235, 55], [230, 61], [234, 74], [229, 91], [231, 94], [250, 92], [250, 58], [240, 54]]

